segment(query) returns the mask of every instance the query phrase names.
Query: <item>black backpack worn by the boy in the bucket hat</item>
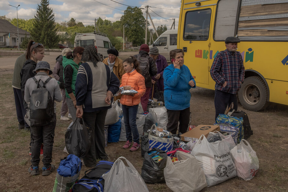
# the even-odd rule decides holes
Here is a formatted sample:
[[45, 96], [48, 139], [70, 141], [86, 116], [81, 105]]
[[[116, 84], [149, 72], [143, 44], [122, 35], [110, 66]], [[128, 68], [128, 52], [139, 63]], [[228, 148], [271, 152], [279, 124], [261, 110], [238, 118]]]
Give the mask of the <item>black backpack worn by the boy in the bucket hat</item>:
[[[45, 85], [52, 79], [49, 77], [45, 82], [39, 81], [33, 77], [37, 84], [37, 89], [34, 89], [30, 96], [30, 119], [33, 120], [50, 120], [54, 116], [54, 101], [50, 92]], [[43, 87], [40, 85], [42, 81]]]

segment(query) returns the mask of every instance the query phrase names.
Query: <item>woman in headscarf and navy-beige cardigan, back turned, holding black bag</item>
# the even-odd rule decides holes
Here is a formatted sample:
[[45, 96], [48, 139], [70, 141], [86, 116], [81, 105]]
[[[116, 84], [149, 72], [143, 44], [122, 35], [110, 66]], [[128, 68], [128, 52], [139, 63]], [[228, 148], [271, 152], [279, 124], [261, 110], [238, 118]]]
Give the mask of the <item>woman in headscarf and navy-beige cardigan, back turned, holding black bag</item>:
[[119, 90], [120, 82], [108, 65], [102, 63], [94, 46], [84, 49], [82, 63], [75, 84], [76, 117], [82, 118], [92, 129], [91, 147], [83, 158], [87, 167], [94, 167], [96, 159], [108, 160], [105, 152], [104, 123], [111, 98]]

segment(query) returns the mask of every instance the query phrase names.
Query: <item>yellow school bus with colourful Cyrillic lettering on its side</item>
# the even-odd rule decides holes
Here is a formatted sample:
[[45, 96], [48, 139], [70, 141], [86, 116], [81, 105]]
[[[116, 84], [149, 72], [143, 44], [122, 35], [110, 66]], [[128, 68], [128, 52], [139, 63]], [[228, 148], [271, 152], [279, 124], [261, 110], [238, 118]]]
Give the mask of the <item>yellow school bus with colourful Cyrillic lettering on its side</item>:
[[177, 47], [197, 86], [214, 89], [210, 68], [224, 40], [237, 36], [245, 67], [238, 99], [250, 111], [267, 102], [288, 105], [288, 2], [182, 0]]

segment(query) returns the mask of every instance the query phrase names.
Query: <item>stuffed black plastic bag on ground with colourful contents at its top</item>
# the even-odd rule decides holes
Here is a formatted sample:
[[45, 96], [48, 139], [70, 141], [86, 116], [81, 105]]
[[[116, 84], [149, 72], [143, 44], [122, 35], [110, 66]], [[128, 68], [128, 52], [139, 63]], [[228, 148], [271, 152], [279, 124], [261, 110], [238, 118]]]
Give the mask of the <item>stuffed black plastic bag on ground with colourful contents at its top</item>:
[[[161, 157], [161, 161], [155, 161], [155, 155]], [[167, 153], [157, 148], [147, 151], [144, 155], [141, 169], [141, 177], [145, 183], [164, 183], [164, 168], [166, 167]]]

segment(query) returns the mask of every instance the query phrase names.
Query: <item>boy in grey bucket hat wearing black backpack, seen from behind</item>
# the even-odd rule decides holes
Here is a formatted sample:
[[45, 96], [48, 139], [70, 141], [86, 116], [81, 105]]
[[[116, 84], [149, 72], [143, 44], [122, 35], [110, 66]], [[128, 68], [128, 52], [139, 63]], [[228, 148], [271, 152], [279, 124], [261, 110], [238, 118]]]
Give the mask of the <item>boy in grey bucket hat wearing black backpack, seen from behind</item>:
[[39, 174], [40, 148], [43, 140], [42, 175], [49, 175], [55, 166], [52, 162], [52, 148], [56, 127], [56, 104], [62, 101], [59, 85], [52, 74], [47, 61], [39, 61], [36, 65], [35, 77], [29, 78], [25, 85], [24, 100], [30, 110], [31, 122], [31, 175]]

